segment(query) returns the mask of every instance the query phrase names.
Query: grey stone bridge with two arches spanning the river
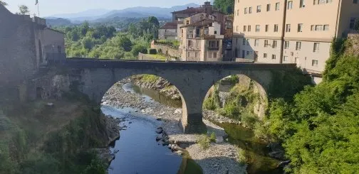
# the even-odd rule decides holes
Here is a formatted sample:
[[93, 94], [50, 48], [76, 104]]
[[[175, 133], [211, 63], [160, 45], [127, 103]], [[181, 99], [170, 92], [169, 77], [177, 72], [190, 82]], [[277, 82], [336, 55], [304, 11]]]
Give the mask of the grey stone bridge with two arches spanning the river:
[[160, 62], [128, 60], [66, 60], [65, 67], [75, 74], [76, 87], [90, 99], [100, 103], [105, 92], [116, 82], [132, 75], [157, 75], [168, 80], [180, 91], [182, 119], [186, 134], [206, 130], [202, 122], [204, 97], [215, 82], [229, 75], [246, 75], [266, 93], [273, 80], [273, 71], [293, 71], [295, 64], [260, 64], [249, 62]]

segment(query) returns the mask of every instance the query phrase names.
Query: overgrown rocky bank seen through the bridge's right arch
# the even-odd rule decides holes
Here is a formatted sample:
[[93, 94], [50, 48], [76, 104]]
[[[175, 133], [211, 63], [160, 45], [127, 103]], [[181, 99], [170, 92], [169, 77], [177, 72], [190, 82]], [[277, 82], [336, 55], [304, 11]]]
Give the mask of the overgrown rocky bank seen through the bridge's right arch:
[[203, 109], [215, 110], [231, 119], [240, 120], [241, 114], [263, 119], [268, 96], [264, 86], [254, 79], [248, 75], [233, 74], [214, 81], [204, 97]]

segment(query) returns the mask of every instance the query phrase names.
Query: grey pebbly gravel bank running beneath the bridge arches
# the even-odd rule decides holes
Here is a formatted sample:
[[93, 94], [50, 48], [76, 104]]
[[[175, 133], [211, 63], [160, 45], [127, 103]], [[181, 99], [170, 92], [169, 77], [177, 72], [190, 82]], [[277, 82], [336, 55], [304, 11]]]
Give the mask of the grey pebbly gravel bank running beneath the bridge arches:
[[[168, 135], [170, 143], [185, 148], [189, 152], [189, 156], [202, 167], [203, 173], [246, 173], [246, 166], [237, 161], [239, 158], [238, 148], [223, 141], [227, 136], [224, 129], [207, 120], [204, 120], [204, 123], [207, 125], [209, 133], [214, 132], [216, 134], [217, 142], [210, 143], [209, 148], [204, 150], [196, 143], [198, 135], [182, 134], [178, 126], [182, 117], [182, 109], [148, 101], [137, 94], [126, 92], [120, 83], [108, 90], [103, 97], [103, 104], [118, 108], [137, 108], [132, 111], [132, 114], [146, 114], [161, 120], [162, 129]], [[210, 117], [207, 112], [204, 115], [207, 118]]]

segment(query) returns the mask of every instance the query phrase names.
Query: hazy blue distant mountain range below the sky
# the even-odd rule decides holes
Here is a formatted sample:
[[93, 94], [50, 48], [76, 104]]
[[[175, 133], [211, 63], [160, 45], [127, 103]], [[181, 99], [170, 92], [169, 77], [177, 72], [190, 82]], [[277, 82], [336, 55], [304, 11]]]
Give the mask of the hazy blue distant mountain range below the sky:
[[[88, 11], [82, 11], [79, 13], [67, 13], [67, 14], [56, 14], [48, 16], [48, 20], [63, 18], [68, 19], [71, 23], [81, 23], [83, 21], [100, 22], [106, 21], [109, 18], [144, 18], [147, 16], [156, 16], [157, 18], [171, 18], [173, 11], [180, 11], [187, 9], [187, 7], [199, 7], [198, 4], [186, 4], [183, 6], [172, 6], [170, 8], [162, 7], [144, 7], [137, 6], [122, 10], [107, 10], [107, 9], [91, 9]], [[63, 20], [61, 19], [61, 20]], [[65, 22], [65, 21], [63, 21]]]

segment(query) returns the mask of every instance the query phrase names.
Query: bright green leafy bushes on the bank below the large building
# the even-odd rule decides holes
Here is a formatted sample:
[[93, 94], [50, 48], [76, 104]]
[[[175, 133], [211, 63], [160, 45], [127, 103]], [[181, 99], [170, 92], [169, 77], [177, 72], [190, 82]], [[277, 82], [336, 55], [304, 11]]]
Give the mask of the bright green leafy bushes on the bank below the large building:
[[359, 171], [359, 38], [333, 41], [324, 80], [293, 102], [276, 99], [269, 136], [283, 142], [293, 173]]

